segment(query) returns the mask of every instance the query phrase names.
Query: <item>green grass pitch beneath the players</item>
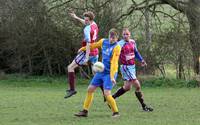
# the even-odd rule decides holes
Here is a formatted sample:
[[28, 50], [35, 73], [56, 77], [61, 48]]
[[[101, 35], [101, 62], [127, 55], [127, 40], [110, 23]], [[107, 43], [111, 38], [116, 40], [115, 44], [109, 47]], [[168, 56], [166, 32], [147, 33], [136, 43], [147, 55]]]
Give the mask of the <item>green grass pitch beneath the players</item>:
[[[112, 118], [97, 90], [88, 118], [77, 118], [88, 81], [79, 80], [76, 96], [63, 98], [65, 79], [0, 80], [0, 125], [199, 125], [199, 88], [143, 88], [152, 113], [141, 111], [133, 90], [117, 99], [119, 118]], [[118, 86], [119, 87], [119, 86]], [[115, 87], [114, 91], [118, 88]]]

